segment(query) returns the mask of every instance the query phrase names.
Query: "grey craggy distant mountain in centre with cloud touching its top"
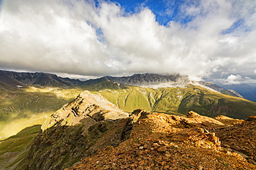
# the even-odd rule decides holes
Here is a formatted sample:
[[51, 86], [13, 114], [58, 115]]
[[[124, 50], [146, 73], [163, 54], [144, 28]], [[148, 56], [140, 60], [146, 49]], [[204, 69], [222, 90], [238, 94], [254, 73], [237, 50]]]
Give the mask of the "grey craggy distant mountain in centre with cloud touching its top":
[[190, 83], [188, 76], [181, 74], [134, 74], [132, 76], [107, 76], [110, 81], [140, 87], [185, 87]]

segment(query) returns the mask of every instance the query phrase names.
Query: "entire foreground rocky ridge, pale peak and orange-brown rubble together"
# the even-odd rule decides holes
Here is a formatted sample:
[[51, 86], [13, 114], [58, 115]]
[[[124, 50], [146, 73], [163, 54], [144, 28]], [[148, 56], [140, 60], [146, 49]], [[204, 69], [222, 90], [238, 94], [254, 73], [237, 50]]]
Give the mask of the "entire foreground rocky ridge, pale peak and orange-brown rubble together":
[[46, 120], [20, 169], [256, 169], [255, 125], [194, 111], [129, 116], [84, 91]]

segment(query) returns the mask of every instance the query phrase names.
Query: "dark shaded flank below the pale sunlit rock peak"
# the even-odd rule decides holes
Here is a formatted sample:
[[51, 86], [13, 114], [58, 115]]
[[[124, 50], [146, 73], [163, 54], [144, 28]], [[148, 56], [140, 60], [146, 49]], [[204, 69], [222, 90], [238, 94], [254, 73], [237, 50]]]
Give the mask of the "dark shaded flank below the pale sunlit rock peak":
[[[127, 119], [90, 120], [82, 118], [73, 126], [57, 125], [45, 129], [35, 138], [24, 169], [64, 169], [98, 149], [119, 145]], [[59, 125], [60, 124], [60, 125]]]

